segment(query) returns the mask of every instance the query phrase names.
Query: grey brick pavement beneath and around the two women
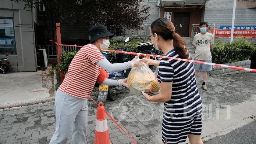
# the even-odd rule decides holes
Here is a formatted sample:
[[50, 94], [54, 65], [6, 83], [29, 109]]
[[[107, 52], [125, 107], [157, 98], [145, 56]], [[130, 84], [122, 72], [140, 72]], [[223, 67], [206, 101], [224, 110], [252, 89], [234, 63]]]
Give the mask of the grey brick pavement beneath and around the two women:
[[[249, 73], [208, 77], [208, 91], [200, 88], [201, 79], [199, 74], [197, 83], [203, 101], [204, 118], [213, 115], [216, 108], [252, 101], [250, 96], [256, 94], [256, 75]], [[97, 106], [92, 100], [88, 100], [88, 106], [87, 141], [93, 144]], [[104, 106], [138, 144], [159, 144], [154, 136], [161, 133], [163, 103], [146, 101], [143, 96], [135, 96], [125, 90], [118, 95], [117, 100], [107, 100]], [[112, 144], [131, 143], [112, 120], [107, 118], [107, 123]], [[0, 144], [48, 144], [55, 125], [54, 102], [1, 109]], [[72, 143], [72, 134], [68, 143]]]

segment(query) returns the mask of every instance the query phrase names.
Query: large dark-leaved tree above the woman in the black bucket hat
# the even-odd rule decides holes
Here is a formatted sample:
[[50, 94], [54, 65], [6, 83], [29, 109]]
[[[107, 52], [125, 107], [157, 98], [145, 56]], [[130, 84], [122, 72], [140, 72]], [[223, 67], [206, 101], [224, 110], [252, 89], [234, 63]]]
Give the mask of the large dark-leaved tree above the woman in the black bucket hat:
[[[56, 19], [54, 14], [58, 11], [60, 22], [70, 22], [92, 27], [102, 24], [115, 29], [141, 29], [141, 25], [149, 18], [150, 8], [140, 3], [143, 0], [15, 0], [22, 1], [25, 7], [44, 5], [49, 20], [51, 39], [54, 40]], [[88, 29], [89, 31], [89, 29]]]

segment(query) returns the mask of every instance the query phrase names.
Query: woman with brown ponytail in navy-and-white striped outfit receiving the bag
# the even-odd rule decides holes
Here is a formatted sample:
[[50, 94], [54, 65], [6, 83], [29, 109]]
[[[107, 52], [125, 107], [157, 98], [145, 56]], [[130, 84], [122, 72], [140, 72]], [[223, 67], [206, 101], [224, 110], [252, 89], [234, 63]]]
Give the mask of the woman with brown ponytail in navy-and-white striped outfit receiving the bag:
[[[192, 59], [185, 48], [185, 41], [175, 33], [173, 23], [159, 18], [151, 24], [151, 39], [154, 48], [163, 51], [165, 56]], [[143, 96], [148, 101], [164, 102], [162, 141], [164, 144], [185, 142], [203, 144], [202, 101], [196, 87], [195, 70], [192, 62], [173, 59], [160, 61], [143, 60], [148, 65], [159, 66], [157, 79], [161, 82], [161, 93], [156, 96]]]

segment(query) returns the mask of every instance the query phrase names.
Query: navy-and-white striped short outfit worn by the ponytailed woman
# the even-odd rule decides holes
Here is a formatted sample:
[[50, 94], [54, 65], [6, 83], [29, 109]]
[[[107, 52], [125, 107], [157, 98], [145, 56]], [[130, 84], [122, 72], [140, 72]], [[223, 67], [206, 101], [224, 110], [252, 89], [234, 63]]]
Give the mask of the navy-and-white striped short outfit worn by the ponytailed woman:
[[[165, 56], [179, 58], [175, 49]], [[171, 99], [164, 102], [163, 142], [167, 139], [168, 144], [178, 144], [185, 142], [189, 133], [201, 135], [202, 101], [196, 87], [193, 63], [161, 59], [157, 79], [159, 82], [173, 82]]]

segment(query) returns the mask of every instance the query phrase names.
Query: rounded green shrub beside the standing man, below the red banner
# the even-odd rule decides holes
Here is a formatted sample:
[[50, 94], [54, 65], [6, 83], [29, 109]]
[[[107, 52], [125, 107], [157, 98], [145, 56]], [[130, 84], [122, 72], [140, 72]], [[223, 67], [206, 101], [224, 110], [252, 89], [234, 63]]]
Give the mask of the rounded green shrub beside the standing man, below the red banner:
[[246, 38], [236, 38], [232, 44], [214, 41], [211, 49], [213, 63], [223, 64], [248, 60], [256, 47]]

